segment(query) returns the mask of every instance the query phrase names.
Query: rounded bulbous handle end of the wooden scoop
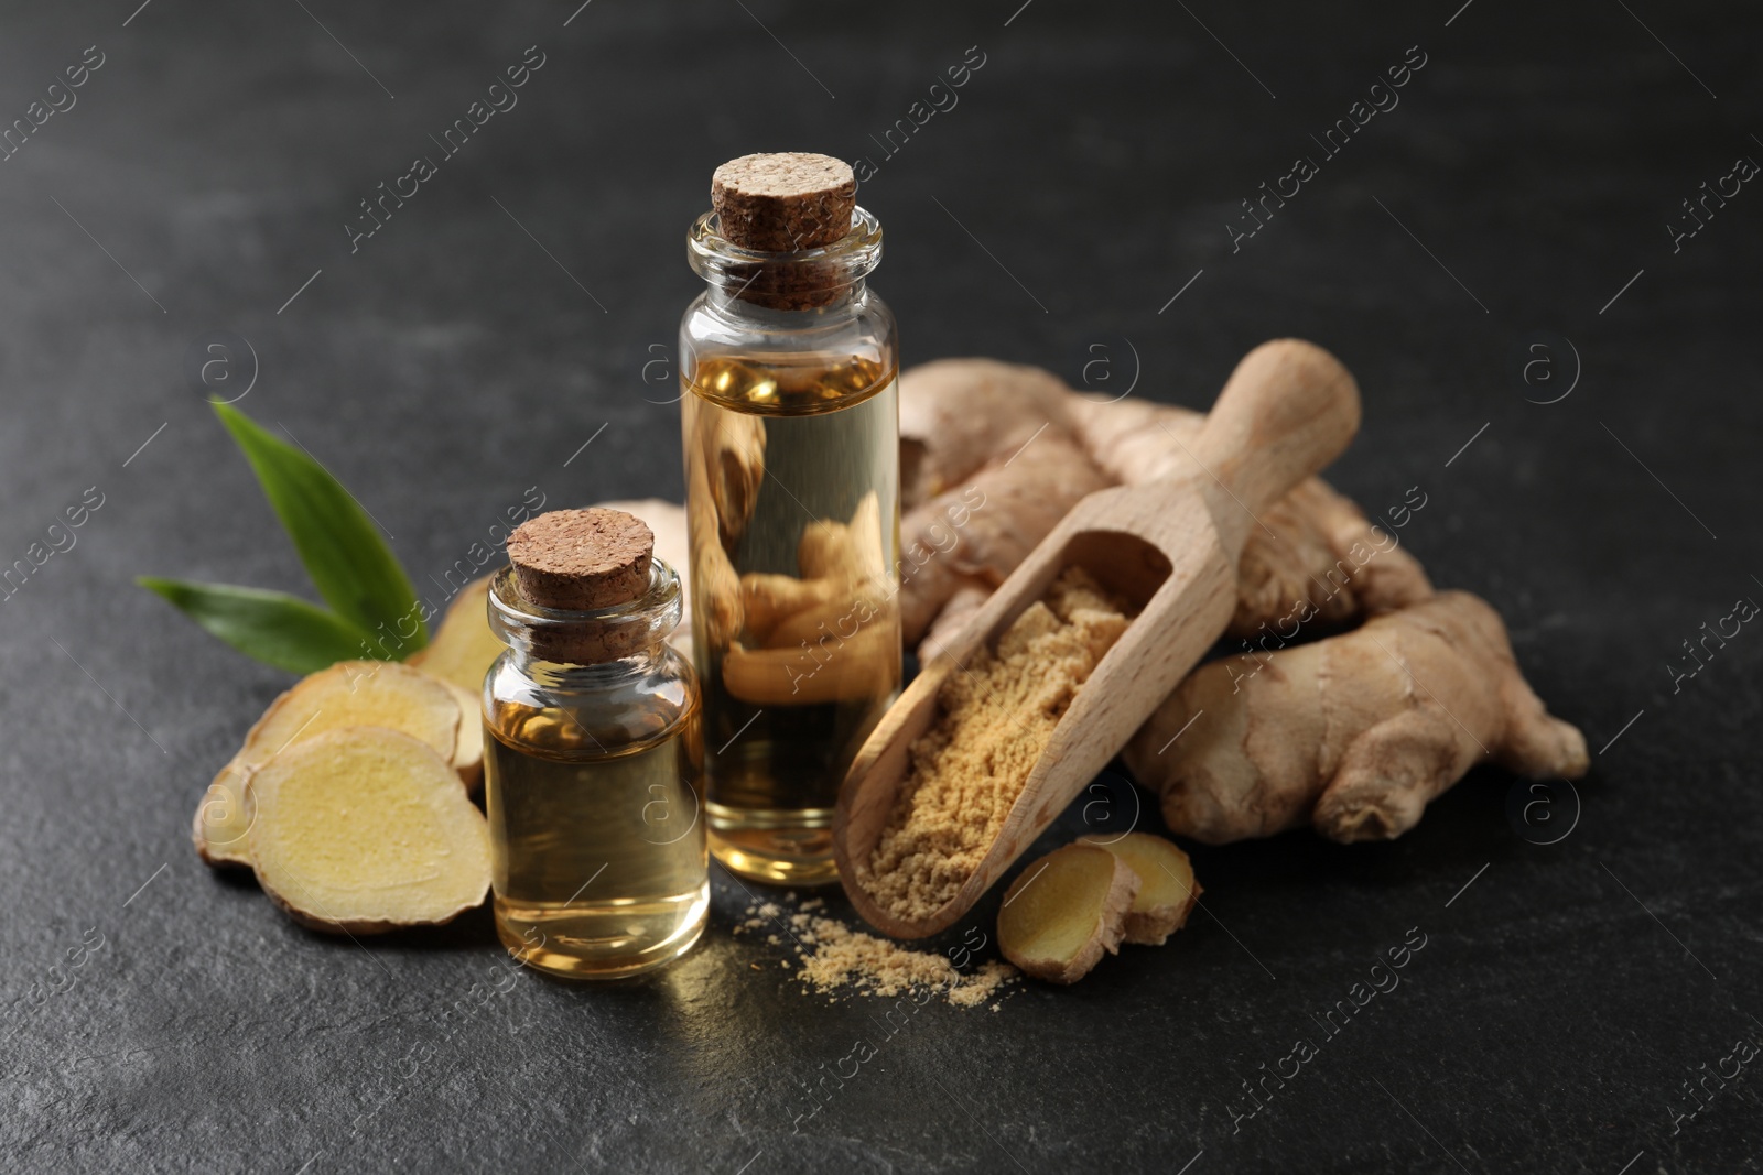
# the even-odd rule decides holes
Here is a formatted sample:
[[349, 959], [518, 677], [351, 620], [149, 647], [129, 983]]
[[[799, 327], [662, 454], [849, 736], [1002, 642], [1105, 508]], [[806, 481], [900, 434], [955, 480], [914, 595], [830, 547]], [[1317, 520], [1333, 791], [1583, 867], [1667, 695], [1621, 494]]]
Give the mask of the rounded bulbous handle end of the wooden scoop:
[[1359, 432], [1359, 386], [1340, 359], [1301, 338], [1261, 344], [1236, 365], [1194, 458], [1261, 514], [1342, 454]]

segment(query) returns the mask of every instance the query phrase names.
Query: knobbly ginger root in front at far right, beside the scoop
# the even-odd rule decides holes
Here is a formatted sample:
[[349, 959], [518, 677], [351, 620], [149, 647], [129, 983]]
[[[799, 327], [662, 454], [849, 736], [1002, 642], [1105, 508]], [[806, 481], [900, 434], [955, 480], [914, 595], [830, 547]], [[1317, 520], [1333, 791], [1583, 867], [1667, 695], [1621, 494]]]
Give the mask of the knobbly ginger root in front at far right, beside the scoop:
[[1206, 844], [1305, 823], [1340, 842], [1398, 837], [1490, 759], [1532, 779], [1588, 763], [1580, 731], [1525, 684], [1500, 617], [1467, 592], [1206, 664], [1125, 750], [1169, 828]]

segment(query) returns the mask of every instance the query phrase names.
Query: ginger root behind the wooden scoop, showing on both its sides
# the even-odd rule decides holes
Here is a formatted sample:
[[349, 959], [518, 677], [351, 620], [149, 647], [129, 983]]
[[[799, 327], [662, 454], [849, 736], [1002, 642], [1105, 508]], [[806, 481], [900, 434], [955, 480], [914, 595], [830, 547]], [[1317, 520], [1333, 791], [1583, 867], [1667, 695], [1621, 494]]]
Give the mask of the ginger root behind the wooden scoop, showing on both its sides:
[[[901, 537], [906, 641], [938, 647], [1091, 490], [1194, 476], [1204, 414], [1077, 395], [994, 359], [938, 359], [901, 375]], [[1324, 625], [1426, 599], [1432, 583], [1393, 537], [1310, 477], [1262, 513], [1238, 564], [1229, 634], [1276, 629], [1296, 610]], [[950, 537], [952, 532], [952, 537]], [[936, 647], [924, 647], [924, 655]]]

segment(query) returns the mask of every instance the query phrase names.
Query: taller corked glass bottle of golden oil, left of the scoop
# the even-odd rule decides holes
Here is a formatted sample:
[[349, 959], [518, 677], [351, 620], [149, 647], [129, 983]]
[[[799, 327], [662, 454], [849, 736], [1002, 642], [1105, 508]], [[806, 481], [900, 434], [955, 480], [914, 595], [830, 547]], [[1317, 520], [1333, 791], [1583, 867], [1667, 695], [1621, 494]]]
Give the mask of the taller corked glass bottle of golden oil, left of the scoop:
[[710, 851], [837, 879], [832, 810], [899, 692], [899, 354], [882, 225], [825, 155], [748, 155], [688, 236], [681, 321], [693, 657]]

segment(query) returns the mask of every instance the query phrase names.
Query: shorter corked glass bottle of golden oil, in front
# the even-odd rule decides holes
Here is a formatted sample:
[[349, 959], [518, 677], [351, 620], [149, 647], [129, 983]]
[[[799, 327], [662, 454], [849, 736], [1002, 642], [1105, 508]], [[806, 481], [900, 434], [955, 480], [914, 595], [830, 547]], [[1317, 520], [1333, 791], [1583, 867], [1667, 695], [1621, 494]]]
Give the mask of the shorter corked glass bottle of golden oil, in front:
[[666, 645], [682, 594], [652, 543], [622, 511], [552, 511], [490, 581], [495, 932], [559, 976], [659, 967], [709, 913], [698, 682]]

